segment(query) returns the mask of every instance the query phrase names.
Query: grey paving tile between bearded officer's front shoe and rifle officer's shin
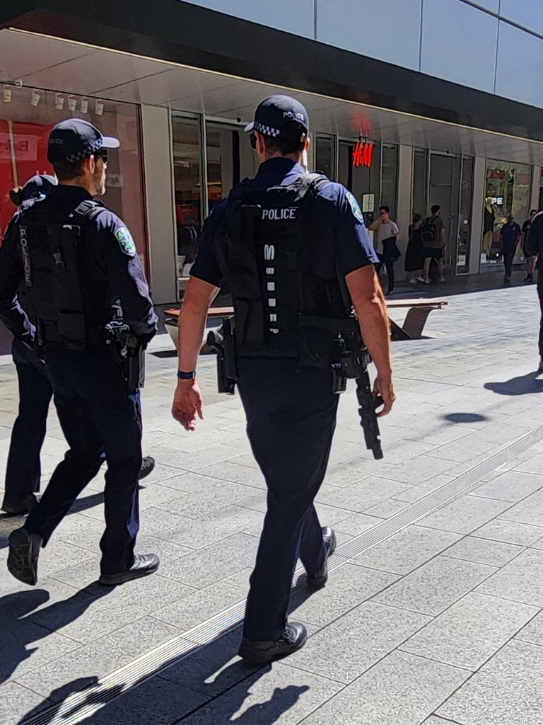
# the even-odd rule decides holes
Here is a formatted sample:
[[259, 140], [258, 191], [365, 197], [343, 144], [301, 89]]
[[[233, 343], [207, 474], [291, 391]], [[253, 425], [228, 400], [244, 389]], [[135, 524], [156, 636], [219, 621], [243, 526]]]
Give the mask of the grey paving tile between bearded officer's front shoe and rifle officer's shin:
[[258, 539], [247, 534], [234, 534], [182, 558], [180, 579], [190, 587], [203, 588], [225, 576], [253, 566]]

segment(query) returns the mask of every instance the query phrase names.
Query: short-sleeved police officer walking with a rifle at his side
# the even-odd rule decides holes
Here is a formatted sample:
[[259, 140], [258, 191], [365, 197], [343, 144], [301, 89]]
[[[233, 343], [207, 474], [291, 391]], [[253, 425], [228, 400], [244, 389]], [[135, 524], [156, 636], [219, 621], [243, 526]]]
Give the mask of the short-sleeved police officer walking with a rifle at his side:
[[196, 416], [202, 416], [195, 365], [206, 312], [227, 283], [235, 309], [237, 385], [268, 487], [240, 646], [240, 655], [255, 664], [303, 647], [306, 629], [287, 623], [295, 563], [299, 555], [308, 587], [324, 587], [336, 545], [334, 531], [321, 528], [313, 505], [336, 419], [332, 343], [329, 331], [303, 328], [300, 320], [345, 317], [350, 304], [347, 311], [344, 282], [377, 368], [381, 415], [394, 402], [377, 257], [354, 197], [321, 175], [306, 175], [301, 162], [308, 128], [306, 109], [290, 97], [271, 96], [256, 109], [246, 130], [261, 165], [206, 221], [179, 322], [172, 415], [193, 431]]

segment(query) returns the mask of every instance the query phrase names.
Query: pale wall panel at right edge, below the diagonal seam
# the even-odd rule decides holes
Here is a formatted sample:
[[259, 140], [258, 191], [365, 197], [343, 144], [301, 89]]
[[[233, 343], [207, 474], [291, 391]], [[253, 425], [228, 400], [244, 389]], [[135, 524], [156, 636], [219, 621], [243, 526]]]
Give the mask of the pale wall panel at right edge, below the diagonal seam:
[[500, 22], [497, 95], [543, 107], [542, 67], [543, 41]]

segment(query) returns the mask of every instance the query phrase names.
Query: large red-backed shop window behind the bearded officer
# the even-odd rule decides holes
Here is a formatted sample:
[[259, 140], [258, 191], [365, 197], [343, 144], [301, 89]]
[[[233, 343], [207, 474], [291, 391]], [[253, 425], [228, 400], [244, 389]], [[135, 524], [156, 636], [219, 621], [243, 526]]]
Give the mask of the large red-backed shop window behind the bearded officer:
[[51, 128], [66, 118], [83, 118], [106, 136], [121, 141], [109, 153], [107, 191], [102, 201], [124, 220], [144, 265], [147, 235], [143, 210], [143, 181], [138, 107], [128, 103], [99, 101], [36, 88], [5, 86], [0, 108], [0, 229], [14, 212], [8, 192], [37, 173], [53, 174], [47, 161]]

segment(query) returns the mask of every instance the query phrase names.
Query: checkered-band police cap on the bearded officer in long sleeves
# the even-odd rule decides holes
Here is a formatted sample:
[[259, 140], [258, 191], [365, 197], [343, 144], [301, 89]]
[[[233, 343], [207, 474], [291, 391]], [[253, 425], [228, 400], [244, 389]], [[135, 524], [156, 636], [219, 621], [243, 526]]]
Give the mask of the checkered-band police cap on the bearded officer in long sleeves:
[[75, 162], [100, 149], [118, 149], [120, 142], [112, 136], [102, 136], [92, 123], [83, 118], [69, 118], [57, 123], [49, 134], [47, 158], [51, 164]]

